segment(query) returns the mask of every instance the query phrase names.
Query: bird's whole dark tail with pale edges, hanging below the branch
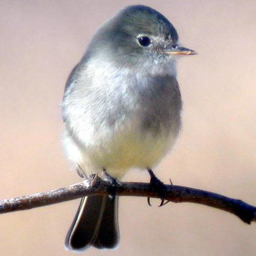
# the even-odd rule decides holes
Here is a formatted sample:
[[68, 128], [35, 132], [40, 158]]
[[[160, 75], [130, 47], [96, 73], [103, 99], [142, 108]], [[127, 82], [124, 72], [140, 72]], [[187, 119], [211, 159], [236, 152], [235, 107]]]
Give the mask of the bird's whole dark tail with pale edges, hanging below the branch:
[[85, 250], [90, 245], [113, 248], [118, 241], [117, 199], [108, 196], [82, 198], [67, 233], [66, 248], [73, 251]]

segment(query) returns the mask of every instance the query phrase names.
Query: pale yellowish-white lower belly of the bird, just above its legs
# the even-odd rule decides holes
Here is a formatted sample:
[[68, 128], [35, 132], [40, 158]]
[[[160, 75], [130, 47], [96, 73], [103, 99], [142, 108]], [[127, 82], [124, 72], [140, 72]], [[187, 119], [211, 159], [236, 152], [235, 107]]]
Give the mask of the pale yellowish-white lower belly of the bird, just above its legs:
[[126, 125], [121, 130], [99, 134], [88, 138], [87, 146], [77, 143], [67, 132], [63, 142], [68, 158], [78, 163], [87, 174], [101, 174], [102, 168], [120, 179], [133, 167], [151, 168], [155, 166], [175, 143], [177, 132], [164, 136], [151, 132], [141, 132], [138, 125]]

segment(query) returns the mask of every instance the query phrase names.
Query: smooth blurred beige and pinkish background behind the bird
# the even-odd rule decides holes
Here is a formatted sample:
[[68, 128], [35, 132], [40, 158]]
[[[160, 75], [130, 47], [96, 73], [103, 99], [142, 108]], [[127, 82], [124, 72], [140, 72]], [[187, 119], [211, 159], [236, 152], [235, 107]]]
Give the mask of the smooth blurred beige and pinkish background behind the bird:
[[[145, 4], [198, 56], [179, 62], [183, 130], [157, 166], [168, 183], [256, 204], [255, 1], [0, 1], [1, 199], [80, 181], [60, 144], [66, 79], [95, 29]], [[133, 171], [125, 180], [148, 181]], [[71, 255], [63, 240], [78, 200], [0, 216], [0, 255]], [[119, 247], [82, 255], [256, 255], [256, 224], [195, 204], [120, 199]]]

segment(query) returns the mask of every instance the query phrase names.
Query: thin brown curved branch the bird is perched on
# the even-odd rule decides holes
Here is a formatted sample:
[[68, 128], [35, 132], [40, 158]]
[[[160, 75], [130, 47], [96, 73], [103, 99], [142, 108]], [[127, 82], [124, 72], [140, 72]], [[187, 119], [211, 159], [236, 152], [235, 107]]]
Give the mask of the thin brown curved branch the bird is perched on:
[[[167, 188], [165, 194], [166, 200], [175, 203], [190, 202], [204, 204], [228, 211], [239, 217], [245, 223], [250, 224], [252, 221], [256, 222], [256, 207], [241, 200], [196, 188], [177, 185], [165, 186]], [[0, 214], [56, 204], [89, 195], [111, 195], [111, 193], [113, 193], [113, 186], [99, 178], [95, 178], [91, 182], [82, 181], [69, 187], [62, 187], [45, 193], [36, 193], [0, 201]], [[121, 186], [115, 187], [115, 193], [118, 196], [160, 198], [149, 183], [122, 182]]]

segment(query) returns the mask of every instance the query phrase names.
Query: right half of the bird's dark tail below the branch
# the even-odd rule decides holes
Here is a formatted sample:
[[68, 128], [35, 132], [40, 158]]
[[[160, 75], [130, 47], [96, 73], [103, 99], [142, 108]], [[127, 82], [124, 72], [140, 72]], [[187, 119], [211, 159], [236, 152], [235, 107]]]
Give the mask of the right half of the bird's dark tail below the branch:
[[119, 243], [118, 197], [106, 197], [105, 210], [94, 246], [114, 248]]

